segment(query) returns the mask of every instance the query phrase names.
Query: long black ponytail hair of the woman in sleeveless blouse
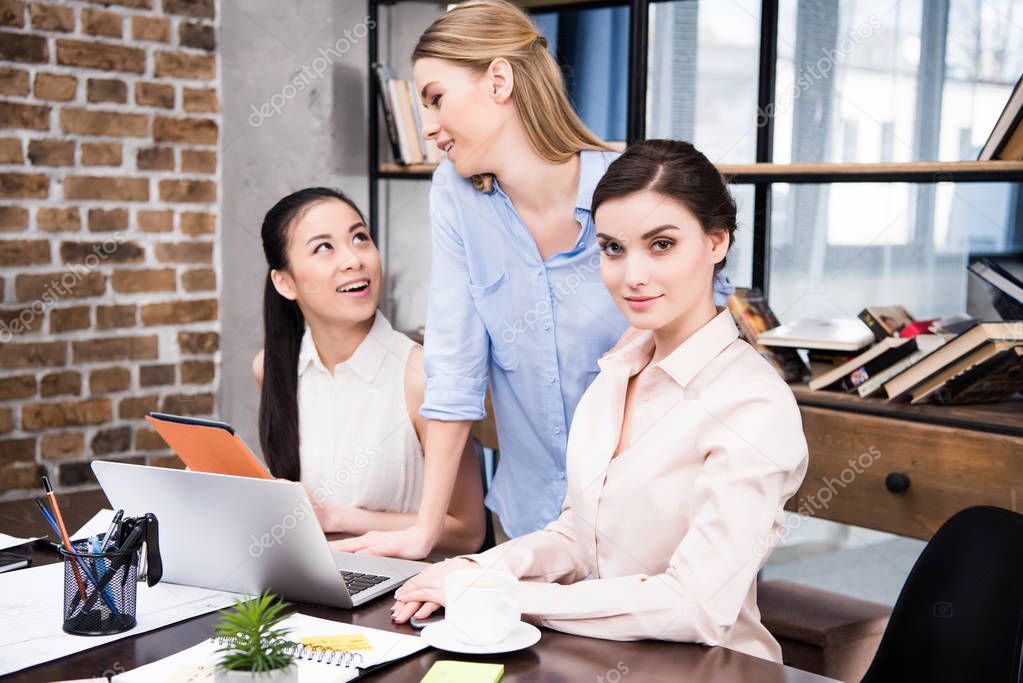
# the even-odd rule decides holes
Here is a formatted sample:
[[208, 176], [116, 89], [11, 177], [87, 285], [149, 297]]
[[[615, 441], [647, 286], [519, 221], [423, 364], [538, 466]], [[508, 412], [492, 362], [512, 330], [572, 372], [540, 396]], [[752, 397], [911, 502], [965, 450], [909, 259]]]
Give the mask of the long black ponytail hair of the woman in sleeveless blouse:
[[263, 254], [269, 267], [263, 285], [263, 389], [259, 401], [259, 443], [274, 476], [298, 482], [299, 461], [299, 351], [306, 319], [298, 302], [284, 299], [273, 286], [270, 271], [287, 270], [287, 240], [292, 224], [314, 203], [338, 199], [362, 212], [340, 190], [307, 187], [288, 194], [263, 218]]

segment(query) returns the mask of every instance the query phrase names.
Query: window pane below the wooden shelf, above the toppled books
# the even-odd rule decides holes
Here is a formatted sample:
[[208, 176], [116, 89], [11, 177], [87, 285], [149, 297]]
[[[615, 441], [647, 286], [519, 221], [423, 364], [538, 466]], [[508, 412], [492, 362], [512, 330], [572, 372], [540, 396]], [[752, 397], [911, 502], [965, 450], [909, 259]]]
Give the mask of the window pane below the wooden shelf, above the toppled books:
[[[1014, 251], [1009, 183], [783, 185], [772, 188], [770, 301], [783, 321], [855, 317], [900, 304], [918, 318], [967, 310], [972, 253]], [[931, 201], [931, 220], [919, 208]], [[1018, 245], [1017, 245], [1018, 247]]]

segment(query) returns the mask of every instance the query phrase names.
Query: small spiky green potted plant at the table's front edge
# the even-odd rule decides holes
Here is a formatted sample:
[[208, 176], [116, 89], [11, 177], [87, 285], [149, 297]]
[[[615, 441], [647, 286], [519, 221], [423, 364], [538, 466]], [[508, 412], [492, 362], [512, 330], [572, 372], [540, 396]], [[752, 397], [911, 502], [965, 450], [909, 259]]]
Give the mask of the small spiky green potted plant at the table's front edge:
[[254, 600], [238, 600], [221, 612], [214, 636], [223, 643], [214, 673], [217, 683], [298, 683], [288, 631], [279, 628], [287, 606], [276, 595], [263, 592]]

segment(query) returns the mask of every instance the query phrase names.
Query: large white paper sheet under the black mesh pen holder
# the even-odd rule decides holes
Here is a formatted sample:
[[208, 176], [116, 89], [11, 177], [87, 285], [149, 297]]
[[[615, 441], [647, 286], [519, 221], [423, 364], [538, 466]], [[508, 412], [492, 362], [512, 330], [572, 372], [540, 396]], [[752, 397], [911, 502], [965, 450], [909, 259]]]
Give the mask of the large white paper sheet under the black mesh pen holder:
[[0, 574], [0, 676], [205, 614], [239, 597], [208, 588], [140, 584], [135, 628], [112, 636], [72, 636], [60, 628], [62, 562]]

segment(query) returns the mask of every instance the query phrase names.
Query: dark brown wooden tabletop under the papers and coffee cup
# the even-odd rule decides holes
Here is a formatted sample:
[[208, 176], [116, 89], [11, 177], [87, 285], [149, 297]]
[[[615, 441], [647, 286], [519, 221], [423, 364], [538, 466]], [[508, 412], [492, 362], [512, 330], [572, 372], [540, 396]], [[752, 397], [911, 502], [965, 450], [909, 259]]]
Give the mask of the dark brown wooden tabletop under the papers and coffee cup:
[[[109, 507], [102, 492], [61, 496], [60, 506], [70, 530], [85, 523], [101, 507]], [[0, 530], [24, 536], [42, 535], [45, 523], [32, 501], [0, 503]], [[35, 551], [34, 564], [56, 561], [53, 553]], [[142, 588], [141, 590], [144, 590]], [[390, 622], [391, 601], [381, 598], [353, 610], [301, 605], [299, 610], [347, 624], [414, 633], [408, 626]], [[0, 680], [54, 681], [90, 676], [100, 677], [128, 671], [194, 645], [213, 632], [216, 613], [168, 626], [157, 631], [124, 638], [107, 645], [62, 659], [26, 669]], [[418, 681], [435, 659], [457, 658], [499, 662], [504, 665], [504, 681], [597, 681], [622, 680], [643, 683], [679, 680], [704, 683], [735, 681], [811, 683], [831, 681], [791, 667], [735, 652], [723, 647], [704, 647], [659, 641], [615, 642], [570, 636], [548, 629], [532, 648], [521, 652], [473, 657], [429, 649], [367, 676], [367, 681]], [[626, 671], [628, 673], [626, 673]]]

